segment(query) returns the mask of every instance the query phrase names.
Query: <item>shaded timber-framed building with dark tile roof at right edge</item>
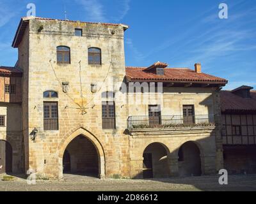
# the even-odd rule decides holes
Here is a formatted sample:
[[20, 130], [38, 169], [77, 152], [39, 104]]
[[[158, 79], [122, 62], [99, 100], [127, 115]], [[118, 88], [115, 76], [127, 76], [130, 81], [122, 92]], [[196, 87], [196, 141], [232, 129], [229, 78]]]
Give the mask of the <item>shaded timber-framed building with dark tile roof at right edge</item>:
[[229, 173], [256, 173], [256, 92], [243, 85], [221, 91], [224, 166]]

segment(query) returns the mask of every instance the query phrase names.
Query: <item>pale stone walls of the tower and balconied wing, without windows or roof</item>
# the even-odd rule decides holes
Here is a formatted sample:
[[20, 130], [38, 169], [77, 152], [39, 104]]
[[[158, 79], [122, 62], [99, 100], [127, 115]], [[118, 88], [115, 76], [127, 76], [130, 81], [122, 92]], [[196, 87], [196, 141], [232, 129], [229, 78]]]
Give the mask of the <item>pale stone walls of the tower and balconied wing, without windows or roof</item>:
[[[75, 29], [82, 29], [83, 36], [75, 36]], [[98, 164], [91, 167], [99, 168], [101, 178], [116, 175], [142, 178], [144, 153], [153, 155], [154, 177], [179, 176], [179, 150], [187, 142], [194, 143], [200, 150], [198, 157], [202, 174], [216, 173], [221, 168], [218, 88], [164, 87], [160, 100], [154, 94], [122, 91], [125, 29], [127, 27], [121, 24], [26, 19], [22, 38], [17, 43], [17, 67], [23, 72], [22, 107], [19, 106], [22, 127], [18, 128], [17, 134], [22, 133], [24, 141], [24, 171], [33, 169], [40, 175], [60, 179], [63, 177], [65, 150], [70, 151], [71, 160], [71, 154], [76, 153], [80, 155], [76, 159], [83, 161], [81, 155], [86, 151], [83, 153], [79, 148], [90, 146], [92, 149], [93, 144], [98, 159], [91, 159]], [[58, 46], [70, 48], [70, 64], [57, 63]], [[90, 47], [100, 48], [101, 65], [88, 64]], [[68, 82], [68, 91], [63, 91], [63, 82]], [[96, 92], [92, 92], [92, 84], [97, 85]], [[58, 92], [58, 98], [44, 98], [45, 91]], [[115, 92], [116, 128], [113, 130], [102, 129], [102, 101], [109, 100], [102, 99], [102, 92], [106, 91]], [[130, 103], [145, 96], [146, 102]], [[57, 131], [44, 129], [45, 101], [58, 103]], [[161, 105], [162, 115], [182, 115], [183, 105], [193, 105], [195, 115], [217, 115], [217, 126], [127, 129], [127, 119], [134, 115], [148, 115], [148, 105]], [[35, 128], [38, 133], [34, 142], [29, 135]], [[81, 136], [92, 144], [76, 143], [72, 146], [72, 141]], [[158, 145], [150, 147], [152, 143]], [[16, 146], [17, 155], [22, 155], [20, 144]], [[72, 162], [74, 159], [71, 165]], [[86, 166], [81, 164], [80, 168]]]

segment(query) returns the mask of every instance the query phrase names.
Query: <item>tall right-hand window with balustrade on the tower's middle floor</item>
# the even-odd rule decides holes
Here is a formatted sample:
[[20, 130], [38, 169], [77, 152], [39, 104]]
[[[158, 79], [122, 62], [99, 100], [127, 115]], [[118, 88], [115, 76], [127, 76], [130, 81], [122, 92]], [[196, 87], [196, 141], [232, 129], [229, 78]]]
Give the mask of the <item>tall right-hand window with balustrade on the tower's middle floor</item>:
[[115, 116], [115, 102], [104, 101], [102, 102], [102, 129], [115, 129], [116, 116]]

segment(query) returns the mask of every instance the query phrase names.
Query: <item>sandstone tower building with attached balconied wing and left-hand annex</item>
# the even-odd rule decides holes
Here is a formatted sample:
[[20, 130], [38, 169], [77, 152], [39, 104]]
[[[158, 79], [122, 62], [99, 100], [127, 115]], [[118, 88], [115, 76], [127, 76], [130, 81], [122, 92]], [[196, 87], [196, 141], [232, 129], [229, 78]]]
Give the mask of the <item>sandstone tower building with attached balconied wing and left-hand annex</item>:
[[2, 166], [50, 178], [191, 176], [223, 168], [220, 88], [227, 80], [202, 73], [198, 63], [195, 70], [163, 62], [125, 68], [127, 29], [21, 19], [12, 45], [17, 64], [0, 68]]

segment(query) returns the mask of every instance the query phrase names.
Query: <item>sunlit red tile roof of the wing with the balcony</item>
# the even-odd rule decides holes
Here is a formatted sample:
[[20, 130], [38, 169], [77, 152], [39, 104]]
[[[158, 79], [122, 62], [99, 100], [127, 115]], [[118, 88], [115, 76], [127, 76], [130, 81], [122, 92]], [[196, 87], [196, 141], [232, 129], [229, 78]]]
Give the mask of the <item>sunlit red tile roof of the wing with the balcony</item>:
[[[165, 68], [164, 75], [146, 71], [147, 68], [127, 67], [126, 78], [129, 81], [162, 81], [162, 82], [218, 82], [227, 84], [224, 78], [214, 77], [205, 73], [196, 73], [188, 68]], [[216, 83], [217, 84], [217, 83]]]

